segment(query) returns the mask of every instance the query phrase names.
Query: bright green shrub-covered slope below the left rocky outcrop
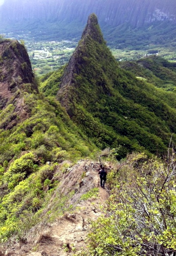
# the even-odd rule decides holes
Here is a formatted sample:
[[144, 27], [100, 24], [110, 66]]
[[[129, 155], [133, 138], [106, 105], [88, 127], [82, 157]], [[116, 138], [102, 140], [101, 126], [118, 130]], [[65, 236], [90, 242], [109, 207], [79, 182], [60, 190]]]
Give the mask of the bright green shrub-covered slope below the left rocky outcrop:
[[[1, 242], [22, 233], [20, 223], [26, 223], [27, 230], [40, 222], [37, 216], [58, 184], [53, 177], [59, 163], [73, 163], [96, 149], [55, 98], [25, 93], [24, 105], [29, 118], [11, 129], [0, 129]], [[1, 111], [1, 124], [8, 122], [13, 111], [12, 105]], [[59, 170], [62, 175], [68, 163]]]

